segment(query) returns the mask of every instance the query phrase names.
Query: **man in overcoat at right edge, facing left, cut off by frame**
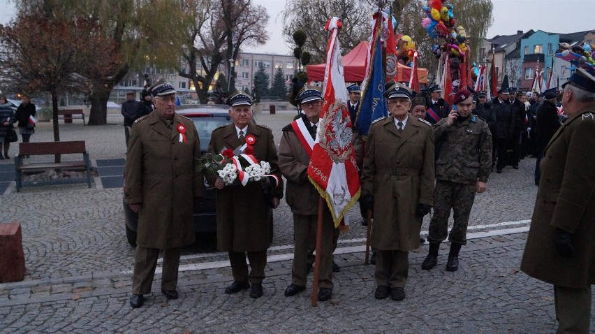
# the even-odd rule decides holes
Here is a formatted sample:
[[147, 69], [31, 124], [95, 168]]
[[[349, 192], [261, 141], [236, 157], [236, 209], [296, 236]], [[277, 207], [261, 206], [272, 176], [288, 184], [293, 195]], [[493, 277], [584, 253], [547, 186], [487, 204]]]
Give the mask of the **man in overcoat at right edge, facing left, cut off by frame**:
[[595, 77], [562, 85], [568, 119], [545, 147], [521, 270], [554, 284], [556, 333], [589, 333], [595, 284]]

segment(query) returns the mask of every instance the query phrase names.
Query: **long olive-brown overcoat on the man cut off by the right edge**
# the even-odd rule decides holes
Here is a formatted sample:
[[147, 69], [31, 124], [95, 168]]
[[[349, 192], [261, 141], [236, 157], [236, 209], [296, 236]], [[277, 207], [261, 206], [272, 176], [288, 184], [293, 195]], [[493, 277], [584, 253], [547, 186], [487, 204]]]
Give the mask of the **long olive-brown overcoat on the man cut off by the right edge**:
[[[579, 110], [552, 137], [541, 160], [541, 181], [521, 270], [559, 286], [595, 284], [595, 105]], [[554, 246], [554, 230], [572, 234], [577, 256]]]

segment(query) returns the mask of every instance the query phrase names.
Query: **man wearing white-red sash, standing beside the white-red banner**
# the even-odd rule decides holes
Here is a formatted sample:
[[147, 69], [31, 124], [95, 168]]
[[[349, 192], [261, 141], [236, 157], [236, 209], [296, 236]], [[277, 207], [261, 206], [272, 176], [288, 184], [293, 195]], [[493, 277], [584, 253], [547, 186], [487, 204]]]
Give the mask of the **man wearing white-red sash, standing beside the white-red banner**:
[[[285, 290], [285, 296], [295, 296], [306, 289], [307, 254], [309, 246], [316, 239], [318, 222], [318, 198], [316, 187], [308, 180], [307, 169], [310, 164], [316, 132], [320, 126], [322, 93], [318, 87], [304, 86], [296, 98], [304, 113], [301, 117], [283, 128], [279, 144], [279, 169], [287, 179], [286, 201], [293, 212], [293, 267], [291, 285]], [[318, 300], [324, 301], [332, 296], [332, 252], [333, 237], [338, 235], [338, 228], [332, 222], [330, 210], [323, 213], [321, 266], [318, 269]]]

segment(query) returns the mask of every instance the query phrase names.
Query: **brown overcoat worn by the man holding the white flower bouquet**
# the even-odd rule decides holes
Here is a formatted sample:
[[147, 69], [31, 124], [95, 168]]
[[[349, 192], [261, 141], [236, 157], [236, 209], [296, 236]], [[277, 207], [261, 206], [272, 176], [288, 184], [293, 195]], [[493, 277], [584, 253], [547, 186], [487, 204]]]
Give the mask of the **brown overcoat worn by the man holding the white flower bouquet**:
[[[272, 132], [265, 126], [249, 124], [247, 135], [256, 138], [254, 157], [267, 161], [271, 166], [271, 174], [281, 173], [277, 160], [277, 147]], [[235, 132], [235, 125], [228, 124], [215, 129], [207, 152], [215, 154], [229, 148], [235, 149], [241, 144]], [[209, 184], [214, 185], [218, 175], [207, 175]], [[265, 193], [263, 182], [248, 182], [246, 187], [240, 185], [226, 186], [216, 190], [217, 208], [217, 248], [223, 252], [256, 252], [270, 247], [270, 219], [272, 211]], [[283, 183], [274, 190], [274, 197], [283, 197]]]

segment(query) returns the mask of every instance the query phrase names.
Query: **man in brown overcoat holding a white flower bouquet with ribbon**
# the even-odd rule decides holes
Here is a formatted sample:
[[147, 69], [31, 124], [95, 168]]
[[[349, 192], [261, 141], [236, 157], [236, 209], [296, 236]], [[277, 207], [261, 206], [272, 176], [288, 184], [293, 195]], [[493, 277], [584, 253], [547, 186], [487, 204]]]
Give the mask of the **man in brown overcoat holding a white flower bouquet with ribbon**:
[[[250, 296], [259, 298], [263, 296], [267, 249], [272, 240], [271, 208], [277, 208], [283, 198], [283, 182], [271, 129], [251, 122], [251, 96], [237, 91], [227, 103], [233, 123], [214, 129], [207, 152], [219, 154], [226, 149], [240, 149], [250, 142], [254, 150], [252, 155], [258, 162], [268, 162], [271, 174], [277, 175], [279, 181], [263, 179], [248, 182], [245, 187], [241, 184], [226, 186], [218, 175], [207, 174], [209, 184], [216, 187], [217, 248], [229, 253], [233, 274], [234, 282], [225, 293], [237, 293], [251, 287]], [[272, 196], [265, 194], [267, 188]], [[246, 256], [250, 261], [250, 273]]]

